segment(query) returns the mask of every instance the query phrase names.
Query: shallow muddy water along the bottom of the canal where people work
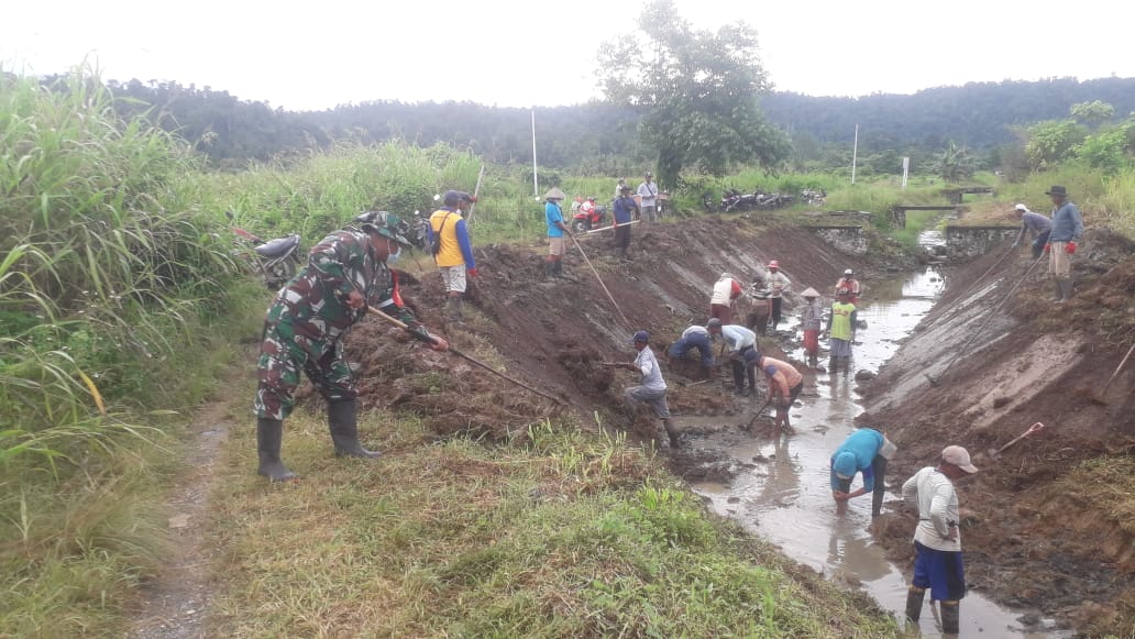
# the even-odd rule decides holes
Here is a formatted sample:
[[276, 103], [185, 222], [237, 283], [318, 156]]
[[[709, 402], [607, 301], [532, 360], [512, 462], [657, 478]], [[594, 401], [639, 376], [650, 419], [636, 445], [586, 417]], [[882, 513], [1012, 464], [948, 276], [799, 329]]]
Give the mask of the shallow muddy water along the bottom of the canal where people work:
[[[926, 244], [941, 242], [930, 234], [924, 234], [922, 239]], [[934, 305], [942, 279], [931, 267], [924, 272], [893, 281], [866, 285], [866, 304], [859, 311], [859, 319], [865, 320], [867, 327], [857, 334], [851, 368], [852, 371], [874, 372], [894, 354], [898, 342]], [[782, 325], [781, 328], [785, 327]], [[794, 329], [792, 326], [789, 328]], [[799, 335], [796, 339], [798, 344]], [[799, 348], [792, 352], [792, 356], [804, 360]], [[825, 353], [822, 352], [821, 363], [825, 361]], [[832, 376], [809, 371], [801, 395], [802, 405], [791, 412], [794, 434], [772, 436], [765, 428], [760, 431], [763, 435], [748, 436], [737, 432], [730, 423], [701, 442], [692, 442], [695, 446], [720, 448], [737, 460], [735, 468], [749, 469], [742, 470], [729, 486], [701, 482], [695, 484], [695, 489], [707, 496], [720, 514], [741, 521], [779, 545], [789, 556], [833, 579], [852, 586], [861, 585], [884, 608], [901, 619], [910, 570], [909, 566], [893, 565], [884, 556], [882, 547], [872, 541], [868, 532], [871, 496], [852, 499], [848, 513], [836, 516], [829, 488], [831, 453], [854, 430], [852, 420], [863, 411], [854, 389], [856, 384], [854, 372], [844, 377], [842, 372]], [[738, 418], [731, 421], [735, 422]], [[707, 426], [704, 422], [705, 418], [681, 423]], [[898, 454], [901, 455], [902, 451]], [[857, 478], [856, 486], [858, 482]], [[892, 491], [884, 512], [897, 505], [898, 497]], [[1067, 636], [1046, 630], [1054, 627], [1051, 620], [1023, 627], [1018, 620], [1025, 614], [1035, 615], [1035, 611], [1007, 609], [970, 590], [961, 604], [959, 637]], [[920, 622], [923, 637], [943, 636], [936, 616], [927, 603]]]

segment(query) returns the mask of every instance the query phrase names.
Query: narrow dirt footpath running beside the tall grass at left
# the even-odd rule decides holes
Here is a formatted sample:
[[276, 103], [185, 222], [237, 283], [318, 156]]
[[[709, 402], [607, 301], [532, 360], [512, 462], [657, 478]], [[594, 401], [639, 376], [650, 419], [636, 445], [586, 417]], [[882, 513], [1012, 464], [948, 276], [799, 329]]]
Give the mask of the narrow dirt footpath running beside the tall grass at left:
[[131, 637], [190, 639], [208, 636], [207, 611], [212, 597], [211, 556], [205, 544], [209, 496], [221, 445], [233, 428], [238, 398], [225, 395], [243, 369], [234, 368], [221, 385], [222, 396], [201, 406], [188, 426], [184, 474], [167, 502], [175, 538], [166, 570], [142, 591]]

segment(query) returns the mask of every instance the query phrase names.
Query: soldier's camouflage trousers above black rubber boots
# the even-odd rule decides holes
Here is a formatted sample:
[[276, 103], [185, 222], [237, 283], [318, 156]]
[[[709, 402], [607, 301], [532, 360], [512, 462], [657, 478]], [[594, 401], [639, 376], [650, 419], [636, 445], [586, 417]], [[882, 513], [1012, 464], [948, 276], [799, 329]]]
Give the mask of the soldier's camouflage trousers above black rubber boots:
[[328, 402], [358, 397], [351, 367], [343, 359], [343, 342], [327, 336], [310, 337], [320, 331], [308, 322], [293, 320], [284, 311], [284, 304], [277, 303], [264, 319], [257, 364], [259, 384], [253, 406], [257, 417], [284, 420], [292, 413], [301, 370]]

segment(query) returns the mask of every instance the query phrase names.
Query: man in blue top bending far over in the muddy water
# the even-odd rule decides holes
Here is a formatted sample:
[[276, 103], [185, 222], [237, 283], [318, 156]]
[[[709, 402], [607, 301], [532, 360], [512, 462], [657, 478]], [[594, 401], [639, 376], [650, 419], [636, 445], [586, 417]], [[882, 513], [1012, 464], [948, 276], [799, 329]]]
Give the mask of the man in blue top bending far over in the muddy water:
[[[848, 499], [871, 493], [871, 516], [876, 518], [883, 510], [883, 494], [886, 490], [883, 479], [886, 476], [886, 452], [894, 445], [886, 446], [886, 437], [874, 428], [860, 428], [832, 453], [831, 485], [832, 497], [835, 499], [835, 513], [843, 514], [848, 508]], [[863, 473], [863, 486], [851, 491], [855, 473]]]

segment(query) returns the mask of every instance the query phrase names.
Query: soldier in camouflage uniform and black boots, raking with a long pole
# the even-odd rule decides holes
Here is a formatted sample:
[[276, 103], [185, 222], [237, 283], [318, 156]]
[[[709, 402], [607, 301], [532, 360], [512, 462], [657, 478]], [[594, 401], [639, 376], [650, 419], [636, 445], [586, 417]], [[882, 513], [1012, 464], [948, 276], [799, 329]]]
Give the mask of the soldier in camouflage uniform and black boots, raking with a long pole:
[[[327, 398], [327, 421], [335, 454], [375, 459], [359, 444], [358, 407], [351, 368], [343, 359], [343, 335], [367, 314], [367, 305], [400, 316], [417, 327], [414, 336], [437, 351], [448, 345], [429, 335], [402, 309], [397, 280], [387, 264], [410, 243], [389, 213], [368, 212], [361, 230], [337, 230], [311, 250], [308, 264], [277, 294], [264, 319], [257, 387], [259, 473], [271, 481], [295, 479], [280, 461], [284, 420], [303, 370]], [[397, 312], [394, 312], [397, 309]]]

